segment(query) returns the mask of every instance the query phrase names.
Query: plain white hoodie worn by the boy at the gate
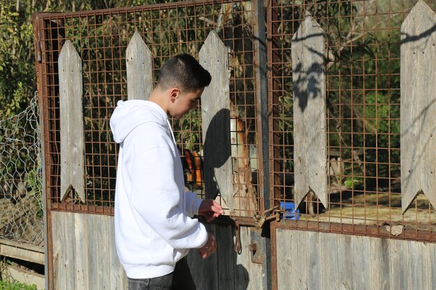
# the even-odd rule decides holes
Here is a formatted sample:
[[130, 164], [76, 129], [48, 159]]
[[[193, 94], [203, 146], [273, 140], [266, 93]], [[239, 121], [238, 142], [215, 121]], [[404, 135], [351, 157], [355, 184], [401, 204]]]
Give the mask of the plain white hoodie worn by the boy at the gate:
[[208, 239], [189, 218], [201, 199], [184, 192], [182, 163], [164, 110], [143, 100], [119, 101], [111, 130], [120, 143], [115, 193], [116, 250], [127, 277], [173, 272], [189, 248]]

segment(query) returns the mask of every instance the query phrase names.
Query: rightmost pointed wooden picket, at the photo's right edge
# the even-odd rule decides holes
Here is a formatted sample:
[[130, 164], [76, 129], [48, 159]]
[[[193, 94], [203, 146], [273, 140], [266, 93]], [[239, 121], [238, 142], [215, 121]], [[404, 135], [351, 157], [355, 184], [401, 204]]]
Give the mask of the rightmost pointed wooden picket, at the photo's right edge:
[[401, 25], [401, 207], [423, 191], [436, 207], [436, 14], [420, 0]]

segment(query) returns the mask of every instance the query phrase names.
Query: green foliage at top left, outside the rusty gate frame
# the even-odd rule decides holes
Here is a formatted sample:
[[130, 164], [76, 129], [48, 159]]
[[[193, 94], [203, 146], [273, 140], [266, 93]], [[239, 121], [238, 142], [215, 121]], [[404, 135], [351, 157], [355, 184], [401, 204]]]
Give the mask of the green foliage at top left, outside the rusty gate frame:
[[173, 1], [0, 0], [0, 119], [23, 110], [36, 91], [31, 16], [36, 12], [75, 12]]

